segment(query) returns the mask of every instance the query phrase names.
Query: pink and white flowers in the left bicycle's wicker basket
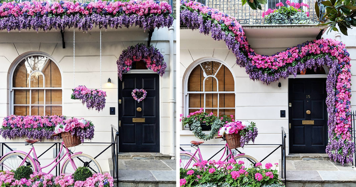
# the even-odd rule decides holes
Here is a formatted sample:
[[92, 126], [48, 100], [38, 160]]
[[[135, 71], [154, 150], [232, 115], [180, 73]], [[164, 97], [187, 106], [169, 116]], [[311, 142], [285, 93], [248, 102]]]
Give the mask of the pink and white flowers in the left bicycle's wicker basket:
[[77, 135], [80, 141], [91, 140], [94, 137], [94, 125], [91, 121], [84, 120], [83, 118], [69, 118], [67, 120], [58, 123], [54, 129], [55, 134], [70, 132], [73, 135]]

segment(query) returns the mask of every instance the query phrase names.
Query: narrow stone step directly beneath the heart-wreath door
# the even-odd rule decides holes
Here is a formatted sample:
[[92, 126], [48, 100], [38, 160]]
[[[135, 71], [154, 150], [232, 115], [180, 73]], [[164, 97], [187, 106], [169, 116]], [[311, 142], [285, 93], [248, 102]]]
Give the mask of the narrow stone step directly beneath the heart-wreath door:
[[169, 160], [170, 155], [163, 155], [159, 152], [119, 152], [117, 159], [133, 159], [133, 160]]

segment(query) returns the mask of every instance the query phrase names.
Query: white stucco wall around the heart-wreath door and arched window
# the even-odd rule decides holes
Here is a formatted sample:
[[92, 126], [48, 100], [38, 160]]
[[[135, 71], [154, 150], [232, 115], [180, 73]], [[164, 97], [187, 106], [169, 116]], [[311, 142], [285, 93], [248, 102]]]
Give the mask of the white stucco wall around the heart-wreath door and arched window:
[[[173, 26], [175, 27], [176, 21]], [[82, 31], [75, 32], [75, 86], [85, 85], [91, 89], [100, 88], [100, 50], [99, 50], [99, 32], [83, 33]], [[153, 32], [151, 44], [155, 46], [164, 56], [167, 63], [166, 74], [160, 81], [160, 152], [169, 154], [171, 146], [170, 129], [169, 129], [169, 31], [168, 28], [161, 28]], [[174, 36], [175, 36], [174, 29]], [[16, 58], [28, 51], [43, 52], [52, 57], [58, 64], [62, 73], [62, 89], [63, 89], [63, 115], [67, 117], [83, 117], [93, 121], [95, 125], [95, 135], [92, 142], [111, 142], [111, 124], [118, 128], [118, 78], [116, 61], [119, 58], [122, 50], [128, 46], [136, 45], [137, 43], [147, 44], [148, 32], [143, 32], [138, 28], [122, 28], [117, 31], [109, 29], [107, 32], [102, 31], [102, 72], [101, 83], [102, 89], [106, 91], [106, 105], [103, 111], [99, 113], [96, 110], [88, 110], [79, 100], [70, 99], [70, 94], [73, 89], [73, 30], [64, 32], [64, 40], [66, 48], [62, 48], [62, 38], [59, 31], [53, 32], [0, 32], [0, 119], [10, 115], [10, 98], [9, 98], [9, 80], [10, 72]], [[174, 61], [176, 59], [176, 38], [174, 38]], [[175, 62], [173, 62], [175, 65]], [[174, 69], [176, 75], [176, 69]], [[174, 76], [175, 77], [175, 76]], [[108, 78], [111, 78], [111, 83], [107, 83]], [[174, 81], [176, 82], [176, 81]], [[176, 90], [176, 85], [174, 85]], [[176, 96], [176, 95], [175, 95]], [[116, 114], [110, 115], [109, 108], [115, 107]], [[176, 116], [174, 114], [174, 116]], [[175, 125], [175, 124], [174, 124]], [[174, 132], [175, 133], [175, 132]], [[174, 134], [175, 137], [175, 134]], [[4, 140], [1, 142], [22, 142], [23, 139]], [[47, 140], [45, 140], [47, 141]], [[21, 146], [20, 146], [21, 145]], [[35, 145], [36, 146], [36, 145]], [[107, 146], [107, 145], [106, 145]], [[83, 151], [85, 154], [96, 156], [106, 146], [84, 144], [76, 146], [72, 151]], [[17, 150], [27, 151], [29, 147], [22, 144], [11, 145]], [[48, 146], [37, 145], [37, 155], [45, 151]], [[139, 150], [138, 150], [139, 151]], [[41, 157], [41, 165], [50, 161], [52, 158], [52, 150], [47, 155]], [[109, 171], [108, 158], [111, 158], [111, 149], [108, 149], [98, 157], [98, 162], [103, 171]], [[47, 171], [47, 170], [45, 170]]]

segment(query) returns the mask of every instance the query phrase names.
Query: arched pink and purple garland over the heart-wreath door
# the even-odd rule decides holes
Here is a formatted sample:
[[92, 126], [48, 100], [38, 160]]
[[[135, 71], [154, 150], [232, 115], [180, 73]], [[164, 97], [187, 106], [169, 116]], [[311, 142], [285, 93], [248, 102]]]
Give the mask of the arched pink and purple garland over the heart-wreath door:
[[136, 46], [129, 46], [122, 51], [117, 64], [117, 76], [122, 80], [122, 73], [127, 73], [132, 69], [132, 62], [145, 61], [146, 67], [154, 72], [157, 72], [161, 77], [167, 67], [164, 62], [163, 55], [155, 47], [147, 47], [145, 44], [140, 43]]

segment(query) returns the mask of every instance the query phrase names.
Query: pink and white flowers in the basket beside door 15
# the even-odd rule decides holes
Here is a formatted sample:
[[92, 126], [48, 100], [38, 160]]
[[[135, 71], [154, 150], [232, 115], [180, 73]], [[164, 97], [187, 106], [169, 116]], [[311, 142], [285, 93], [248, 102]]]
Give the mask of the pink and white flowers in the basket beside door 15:
[[256, 123], [252, 121], [232, 121], [220, 128], [218, 134], [219, 136], [224, 136], [226, 134], [239, 134], [241, 135], [241, 147], [244, 147], [245, 144], [248, 144], [250, 141], [255, 142], [258, 130]]

